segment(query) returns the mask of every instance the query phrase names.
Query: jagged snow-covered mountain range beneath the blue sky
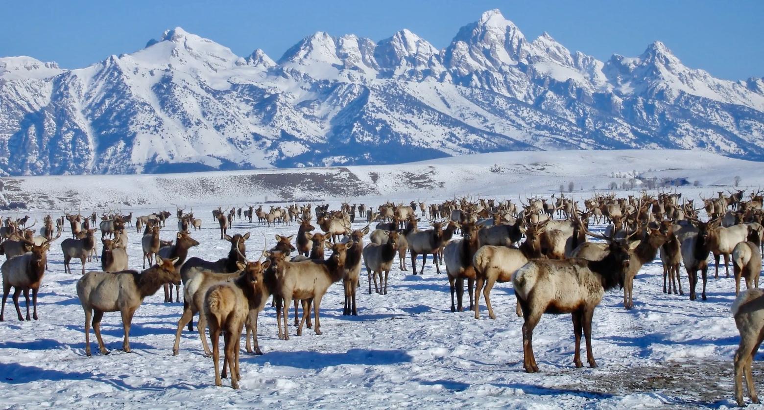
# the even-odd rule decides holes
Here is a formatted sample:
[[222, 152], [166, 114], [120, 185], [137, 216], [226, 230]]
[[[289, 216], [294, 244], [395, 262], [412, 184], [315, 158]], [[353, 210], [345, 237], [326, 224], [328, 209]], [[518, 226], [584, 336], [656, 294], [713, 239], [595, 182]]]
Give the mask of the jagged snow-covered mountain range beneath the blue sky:
[[764, 79], [656, 42], [606, 62], [486, 11], [439, 50], [316, 33], [277, 61], [166, 31], [83, 69], [0, 58], [0, 174], [401, 163], [499, 150], [694, 148], [764, 160]]

